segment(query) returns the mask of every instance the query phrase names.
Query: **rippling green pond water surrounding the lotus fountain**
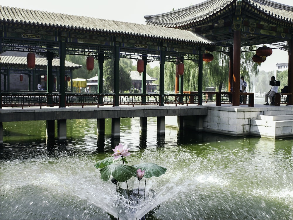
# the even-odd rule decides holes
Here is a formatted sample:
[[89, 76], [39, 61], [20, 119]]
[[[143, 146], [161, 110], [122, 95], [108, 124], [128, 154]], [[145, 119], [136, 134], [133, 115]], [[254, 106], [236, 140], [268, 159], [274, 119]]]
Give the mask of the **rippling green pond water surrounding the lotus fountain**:
[[[156, 200], [129, 213], [120, 208], [115, 186], [103, 182], [94, 168], [113, 153], [117, 141], [111, 139], [110, 119], [105, 120], [105, 137], [97, 137], [94, 119], [68, 120], [64, 143], [46, 141], [45, 122], [33, 123], [29, 128], [4, 123], [1, 219], [99, 220], [107, 219], [108, 212], [133, 220], [157, 205], [154, 219], [293, 219], [291, 139], [238, 138], [168, 127], [165, 136], [157, 136], [156, 118], [148, 118], [145, 136], [139, 119], [121, 119], [118, 142], [130, 147], [128, 163], [153, 162], [167, 168], [161, 177], [147, 180]], [[9, 136], [12, 133], [20, 138]], [[131, 187], [138, 184], [131, 180]]]

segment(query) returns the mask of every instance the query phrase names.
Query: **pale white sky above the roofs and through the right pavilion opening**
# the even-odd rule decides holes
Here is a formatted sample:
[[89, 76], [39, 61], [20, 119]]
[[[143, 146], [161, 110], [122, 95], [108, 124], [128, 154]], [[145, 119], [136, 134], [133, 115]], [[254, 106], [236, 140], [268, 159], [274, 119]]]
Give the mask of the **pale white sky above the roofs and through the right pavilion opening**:
[[[1, 0], [0, 5], [144, 24], [145, 15], [165, 13], [172, 11], [173, 8], [175, 10], [185, 8], [203, 1], [204, 0]], [[292, 0], [275, 1], [293, 6]], [[267, 57], [267, 60], [261, 64], [260, 70], [272, 71], [276, 69], [277, 63], [287, 62], [288, 53], [286, 51], [275, 49], [273, 50], [272, 55]]]

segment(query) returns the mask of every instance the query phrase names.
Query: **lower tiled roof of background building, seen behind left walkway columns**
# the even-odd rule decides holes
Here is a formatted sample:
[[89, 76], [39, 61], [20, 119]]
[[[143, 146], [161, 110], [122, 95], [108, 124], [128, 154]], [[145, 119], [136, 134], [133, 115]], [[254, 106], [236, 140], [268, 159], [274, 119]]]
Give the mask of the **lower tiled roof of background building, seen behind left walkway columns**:
[[[47, 67], [47, 59], [46, 58], [41, 58], [41, 57], [36, 57], [36, 66], [39, 67]], [[16, 57], [16, 56], [3, 56], [1, 55], [1, 65], [24, 65], [26, 66], [28, 64], [27, 57]], [[59, 67], [60, 65], [60, 60], [59, 59], [53, 59], [52, 61], [52, 66], [53, 67]], [[81, 68], [82, 65], [78, 65], [69, 61], [65, 60], [65, 67], [68, 68]]]

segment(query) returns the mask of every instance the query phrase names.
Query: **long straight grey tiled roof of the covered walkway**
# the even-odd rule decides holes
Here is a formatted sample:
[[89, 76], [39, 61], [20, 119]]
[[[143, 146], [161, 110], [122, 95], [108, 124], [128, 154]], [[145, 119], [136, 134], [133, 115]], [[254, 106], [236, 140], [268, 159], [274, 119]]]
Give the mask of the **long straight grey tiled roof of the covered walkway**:
[[39, 26], [60, 27], [70, 30], [89, 30], [102, 33], [127, 34], [156, 39], [176, 40], [190, 43], [214, 44], [191, 31], [155, 27], [145, 24], [112, 21], [84, 16], [51, 13], [0, 6], [0, 21]]

